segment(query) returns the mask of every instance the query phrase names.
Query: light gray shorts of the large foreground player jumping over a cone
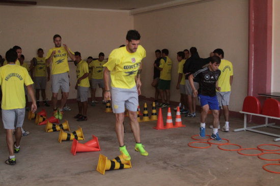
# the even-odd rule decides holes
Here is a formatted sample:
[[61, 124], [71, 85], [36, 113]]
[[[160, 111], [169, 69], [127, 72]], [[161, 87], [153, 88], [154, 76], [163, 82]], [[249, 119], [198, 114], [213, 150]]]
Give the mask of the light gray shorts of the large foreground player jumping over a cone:
[[114, 113], [124, 113], [125, 108], [130, 111], [137, 111], [138, 92], [136, 86], [131, 89], [112, 87], [111, 98]]

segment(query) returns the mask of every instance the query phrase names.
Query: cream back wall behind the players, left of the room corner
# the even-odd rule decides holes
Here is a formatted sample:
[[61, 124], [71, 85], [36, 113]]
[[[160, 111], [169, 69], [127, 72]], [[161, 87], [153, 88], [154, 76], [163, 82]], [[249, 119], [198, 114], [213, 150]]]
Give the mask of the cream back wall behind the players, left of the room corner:
[[[97, 11], [89, 9], [54, 9], [34, 7], [0, 6], [0, 54], [14, 45], [22, 48], [26, 61], [37, 54], [37, 49], [54, 47], [54, 34], [62, 36], [62, 43], [75, 52], [79, 51], [83, 59], [98, 57], [99, 52], [108, 57], [111, 50], [125, 44], [126, 32], [133, 28], [133, 17], [127, 11]], [[76, 98], [74, 85], [75, 66], [70, 67], [69, 98]], [[50, 82], [46, 88], [47, 98], [51, 99]], [[100, 97], [101, 89], [96, 96]]]

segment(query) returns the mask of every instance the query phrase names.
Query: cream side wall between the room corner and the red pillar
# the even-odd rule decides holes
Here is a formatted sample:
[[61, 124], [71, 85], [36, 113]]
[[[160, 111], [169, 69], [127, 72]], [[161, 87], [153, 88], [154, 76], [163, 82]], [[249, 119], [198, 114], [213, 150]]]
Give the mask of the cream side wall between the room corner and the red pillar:
[[177, 52], [197, 47], [201, 57], [221, 48], [233, 63], [230, 110], [239, 111], [247, 94], [248, 1], [216, 0], [134, 16], [134, 28], [147, 52], [143, 60], [142, 94], [154, 97], [151, 87], [156, 49], [167, 48], [173, 60], [171, 100], [179, 101]]

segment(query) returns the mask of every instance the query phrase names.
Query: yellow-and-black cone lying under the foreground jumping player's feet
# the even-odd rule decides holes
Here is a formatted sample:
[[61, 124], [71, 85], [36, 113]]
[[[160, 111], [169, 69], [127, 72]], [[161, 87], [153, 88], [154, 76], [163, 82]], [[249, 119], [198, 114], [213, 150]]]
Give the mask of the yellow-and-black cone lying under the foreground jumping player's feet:
[[105, 174], [105, 170], [117, 170], [117, 169], [128, 169], [128, 168], [131, 168], [131, 165], [122, 164], [113, 160], [108, 160], [107, 157], [100, 154], [96, 170], [101, 174]]

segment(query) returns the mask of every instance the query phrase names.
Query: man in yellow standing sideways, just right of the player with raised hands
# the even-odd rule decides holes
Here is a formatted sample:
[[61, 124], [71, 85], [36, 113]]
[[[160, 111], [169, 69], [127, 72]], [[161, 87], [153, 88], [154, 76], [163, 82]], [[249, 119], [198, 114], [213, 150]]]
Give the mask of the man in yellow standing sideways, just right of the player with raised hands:
[[87, 61], [81, 60], [81, 54], [79, 52], [75, 52], [76, 57], [76, 75], [77, 75], [77, 83], [75, 89], [77, 90], [77, 102], [79, 108], [79, 114], [77, 114], [74, 118], [77, 119], [78, 122], [87, 121], [87, 111], [88, 111], [88, 91], [90, 87], [89, 82], [89, 65]]

